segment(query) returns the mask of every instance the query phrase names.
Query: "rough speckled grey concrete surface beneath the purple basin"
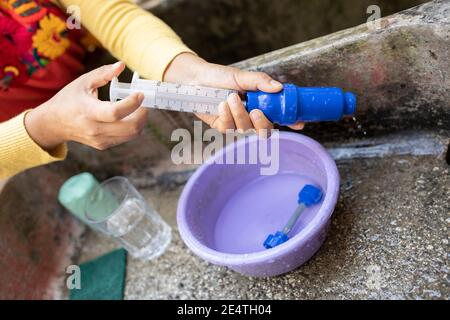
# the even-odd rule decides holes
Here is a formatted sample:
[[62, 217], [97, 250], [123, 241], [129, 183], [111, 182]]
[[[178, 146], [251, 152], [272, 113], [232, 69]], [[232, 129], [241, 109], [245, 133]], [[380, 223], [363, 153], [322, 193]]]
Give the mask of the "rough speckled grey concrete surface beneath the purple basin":
[[[338, 166], [341, 196], [324, 246], [303, 267], [264, 279], [213, 266], [187, 249], [175, 227], [183, 184], [146, 187], [145, 176], [132, 176], [174, 227], [174, 239], [155, 261], [129, 260], [126, 298], [448, 299], [449, 165], [435, 156], [398, 156]], [[112, 247], [89, 234], [81, 261]]]

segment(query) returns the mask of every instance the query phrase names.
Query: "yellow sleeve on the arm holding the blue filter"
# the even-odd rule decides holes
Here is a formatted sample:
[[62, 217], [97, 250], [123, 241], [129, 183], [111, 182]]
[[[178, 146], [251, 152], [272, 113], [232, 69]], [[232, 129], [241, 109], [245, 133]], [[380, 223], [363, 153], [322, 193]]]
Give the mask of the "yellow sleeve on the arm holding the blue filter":
[[162, 80], [170, 62], [192, 52], [159, 18], [129, 0], [59, 0], [78, 6], [82, 25], [142, 77]]

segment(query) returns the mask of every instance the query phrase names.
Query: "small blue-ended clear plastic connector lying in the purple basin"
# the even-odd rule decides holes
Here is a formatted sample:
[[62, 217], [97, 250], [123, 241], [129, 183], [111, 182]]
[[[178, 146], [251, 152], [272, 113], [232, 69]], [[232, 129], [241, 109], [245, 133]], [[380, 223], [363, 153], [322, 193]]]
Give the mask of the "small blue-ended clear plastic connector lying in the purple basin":
[[283, 231], [277, 231], [275, 234], [270, 234], [266, 238], [263, 244], [264, 248], [272, 249], [288, 241], [289, 240], [288, 234], [294, 227], [303, 210], [305, 208], [311, 207], [312, 205], [318, 204], [322, 200], [322, 197], [323, 193], [322, 190], [320, 190], [320, 188], [313, 186], [311, 184], [305, 185], [298, 194], [299, 207], [289, 218], [289, 221], [284, 226]]

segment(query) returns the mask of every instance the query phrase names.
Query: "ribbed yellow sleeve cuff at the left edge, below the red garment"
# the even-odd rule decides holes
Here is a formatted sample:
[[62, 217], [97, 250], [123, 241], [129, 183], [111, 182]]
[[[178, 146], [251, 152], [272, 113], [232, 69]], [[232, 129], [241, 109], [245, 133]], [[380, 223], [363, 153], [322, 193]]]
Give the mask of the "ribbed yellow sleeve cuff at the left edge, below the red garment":
[[28, 168], [63, 160], [67, 155], [66, 144], [49, 153], [31, 139], [24, 124], [28, 111], [0, 123], [0, 179]]

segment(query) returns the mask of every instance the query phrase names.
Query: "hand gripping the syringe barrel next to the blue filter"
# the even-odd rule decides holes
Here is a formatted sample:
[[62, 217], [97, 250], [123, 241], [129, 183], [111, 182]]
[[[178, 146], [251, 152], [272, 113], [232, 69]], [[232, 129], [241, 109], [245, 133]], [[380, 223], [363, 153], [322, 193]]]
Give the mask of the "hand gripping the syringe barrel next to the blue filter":
[[[172, 61], [164, 74], [164, 81], [239, 91], [278, 92], [283, 88], [281, 83], [266, 73], [208, 63], [191, 53], [182, 53]], [[249, 114], [237, 94], [231, 94], [227, 101], [220, 104], [219, 114], [197, 114], [197, 117], [222, 133], [227, 129], [246, 131], [254, 128], [260, 131], [273, 128], [273, 124], [260, 110], [253, 110]], [[301, 122], [290, 126], [294, 130], [303, 127]]]

